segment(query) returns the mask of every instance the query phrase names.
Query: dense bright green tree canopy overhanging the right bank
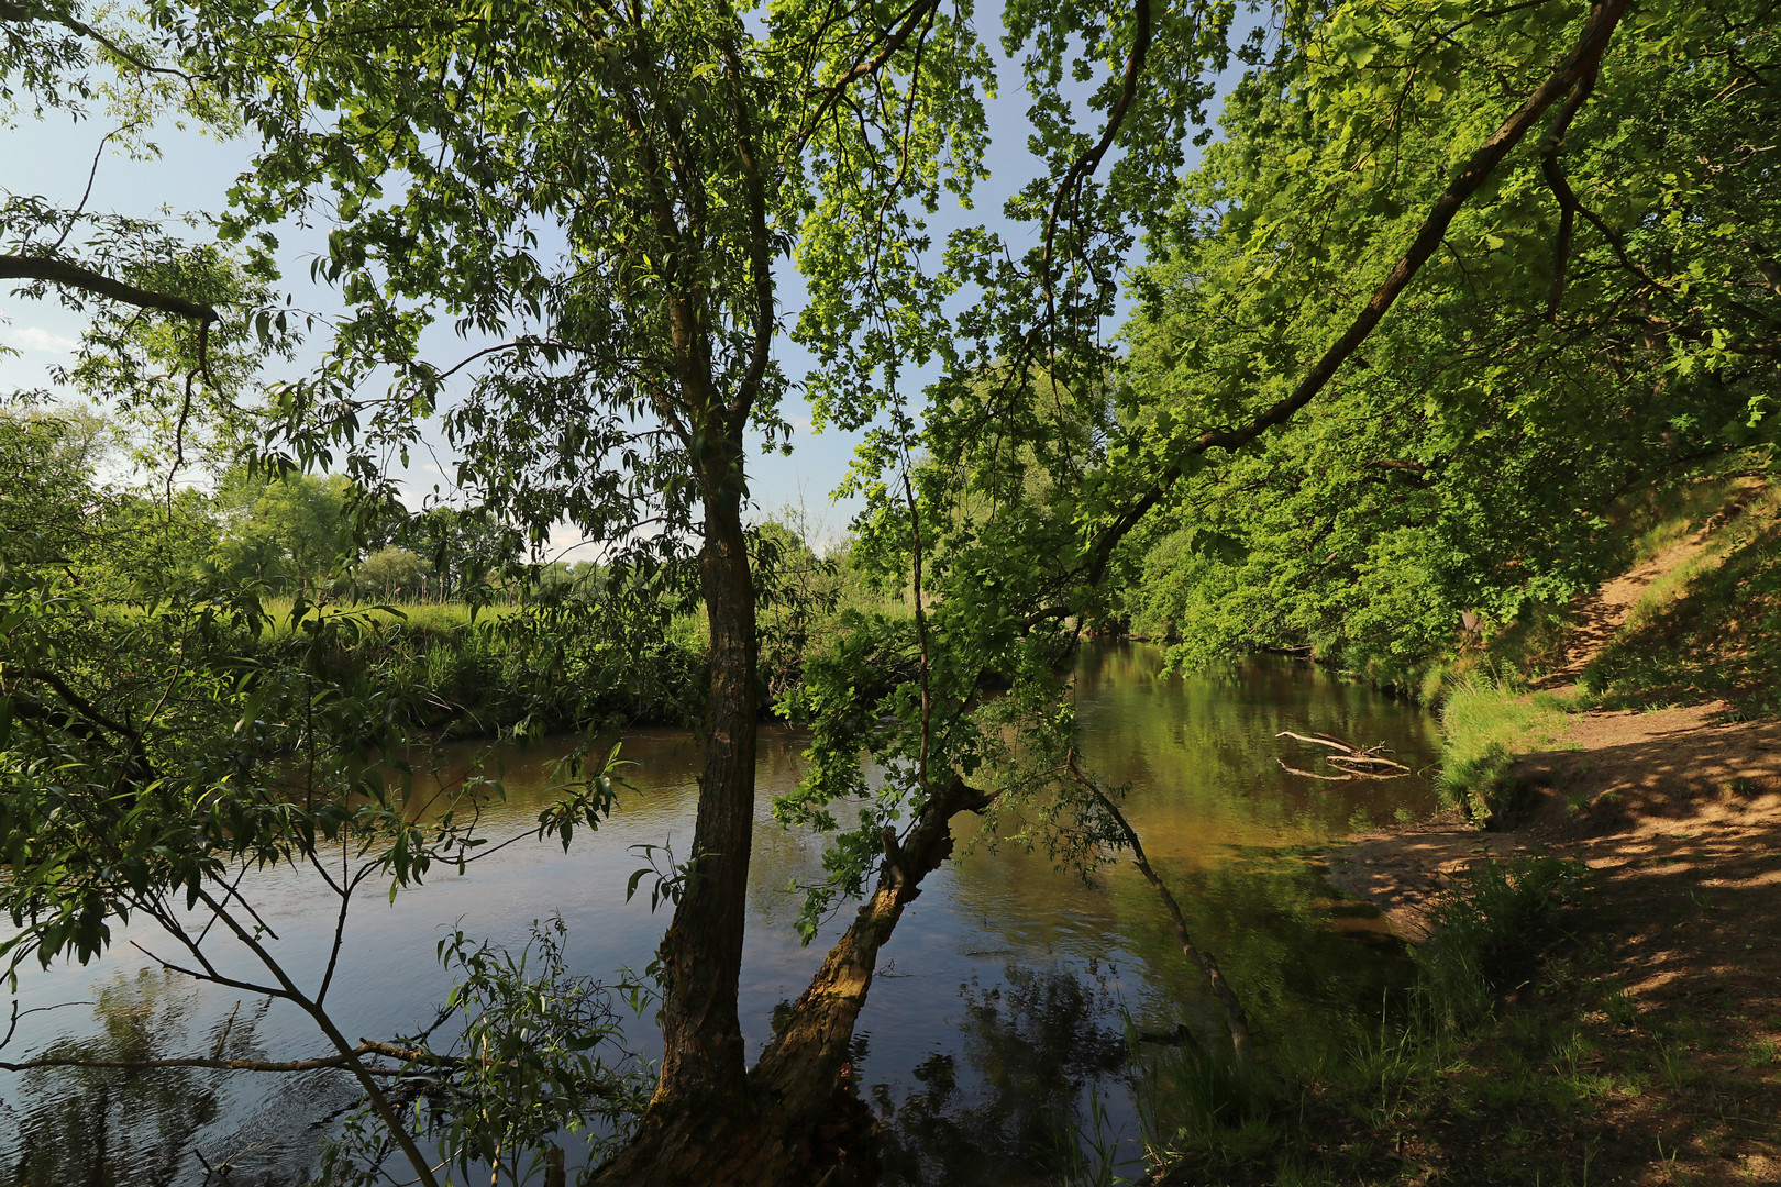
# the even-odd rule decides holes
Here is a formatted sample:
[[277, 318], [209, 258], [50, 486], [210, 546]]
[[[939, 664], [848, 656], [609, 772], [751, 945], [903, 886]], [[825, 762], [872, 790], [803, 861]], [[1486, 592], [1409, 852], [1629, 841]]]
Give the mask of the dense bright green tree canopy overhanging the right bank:
[[[1535, 78], [1569, 20], [1295, 11], [1140, 276], [1122, 448], [1167, 457], [1297, 383], [1496, 126], [1503, 84]], [[1767, 174], [1731, 142], [1781, 112], [1769, 91], [1729, 98], [1740, 68], [1704, 64], [1772, 55], [1772, 28], [1740, 20], [1726, 11], [1710, 32], [1665, 9], [1615, 34], [1562, 142], [1585, 210], [1565, 271], [1560, 203], [1530, 146], [1457, 215], [1416, 297], [1314, 411], [1186, 475], [1133, 536], [1134, 628], [1181, 639], [1177, 662], [1307, 646], [1416, 687], [1459, 642], [1462, 612], [1507, 623], [1617, 566], [1624, 489], [1770, 441], [1763, 244], [1781, 228]], [[1688, 217], [1660, 214], [1685, 192]]]

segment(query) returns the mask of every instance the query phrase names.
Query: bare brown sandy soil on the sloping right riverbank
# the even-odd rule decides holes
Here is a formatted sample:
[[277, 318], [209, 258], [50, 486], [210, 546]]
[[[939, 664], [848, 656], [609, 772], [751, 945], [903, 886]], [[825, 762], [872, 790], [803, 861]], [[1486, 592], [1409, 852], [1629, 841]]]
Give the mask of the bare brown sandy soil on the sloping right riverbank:
[[[1583, 626], [1549, 683], [1574, 680], [1704, 536], [1578, 607]], [[1617, 1020], [1587, 1004], [1576, 1014], [1589, 1059], [1615, 1087], [1582, 1118], [1533, 1107], [1501, 1132], [1491, 1132], [1509, 1126], [1501, 1118], [1457, 1110], [1439, 1121], [1452, 1128], [1416, 1139], [1428, 1182], [1476, 1182], [1466, 1148], [1517, 1141], [1532, 1171], [1546, 1164], [1544, 1182], [1578, 1182], [1587, 1155], [1590, 1183], [1781, 1183], [1781, 721], [1724, 724], [1726, 710], [1573, 714], [1553, 749], [1512, 771], [1521, 828], [1430, 820], [1329, 854], [1332, 881], [1412, 941], [1427, 940], [1432, 897], [1468, 861], [1555, 852], [1594, 872], [1564, 957], [1571, 984], [1558, 975], [1548, 991], [1624, 995]]]

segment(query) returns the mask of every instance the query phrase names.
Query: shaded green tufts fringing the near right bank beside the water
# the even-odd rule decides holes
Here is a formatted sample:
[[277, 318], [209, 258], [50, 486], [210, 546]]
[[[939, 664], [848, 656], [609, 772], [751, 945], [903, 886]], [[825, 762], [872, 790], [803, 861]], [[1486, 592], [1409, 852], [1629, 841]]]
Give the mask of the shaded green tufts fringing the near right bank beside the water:
[[[1469, 1059], [1514, 1109], [1541, 1093], [1573, 1100], [1585, 1078], [1574, 1066], [1555, 1084], [1516, 1075], [1492, 1048], [1509, 1029], [1505, 995], [1528, 989], [1585, 886], [1578, 861], [1473, 861], [1435, 899], [1409, 1000], [1382, 1002], [1368, 1032], [1330, 1046], [1325, 1036], [1284, 1030], [1248, 1077], [1195, 1046], [1147, 1054], [1136, 1093], [1163, 1182], [1391, 1182], [1402, 1169], [1393, 1137], [1446, 1123]], [[1485, 1112], [1480, 1102], [1468, 1109]]]

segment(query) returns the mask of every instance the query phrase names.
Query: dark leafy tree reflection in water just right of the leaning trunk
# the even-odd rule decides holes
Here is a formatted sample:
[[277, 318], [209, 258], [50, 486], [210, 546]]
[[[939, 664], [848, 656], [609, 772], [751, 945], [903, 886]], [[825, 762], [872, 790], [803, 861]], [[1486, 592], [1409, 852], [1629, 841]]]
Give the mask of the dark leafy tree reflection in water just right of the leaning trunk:
[[1049, 1183], [1060, 1141], [1076, 1141], [1083, 1089], [1126, 1062], [1108, 977], [1008, 966], [1004, 982], [960, 986], [962, 1057], [933, 1052], [896, 1100], [873, 1084], [885, 1183]]

